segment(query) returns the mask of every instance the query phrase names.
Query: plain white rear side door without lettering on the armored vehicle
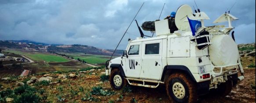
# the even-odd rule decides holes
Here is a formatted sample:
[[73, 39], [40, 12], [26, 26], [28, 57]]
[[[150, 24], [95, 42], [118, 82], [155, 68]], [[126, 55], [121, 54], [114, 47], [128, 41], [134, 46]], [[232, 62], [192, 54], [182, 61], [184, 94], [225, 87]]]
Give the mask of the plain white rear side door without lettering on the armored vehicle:
[[162, 73], [162, 39], [142, 42], [140, 78], [159, 80]]

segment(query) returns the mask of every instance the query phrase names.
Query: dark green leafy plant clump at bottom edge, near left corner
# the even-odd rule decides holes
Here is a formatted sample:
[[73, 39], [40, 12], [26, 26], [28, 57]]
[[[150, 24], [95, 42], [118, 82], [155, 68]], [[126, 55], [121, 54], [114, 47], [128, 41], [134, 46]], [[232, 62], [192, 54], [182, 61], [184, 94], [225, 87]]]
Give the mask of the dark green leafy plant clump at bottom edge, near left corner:
[[39, 103], [40, 96], [35, 93], [22, 93], [13, 100], [13, 103]]

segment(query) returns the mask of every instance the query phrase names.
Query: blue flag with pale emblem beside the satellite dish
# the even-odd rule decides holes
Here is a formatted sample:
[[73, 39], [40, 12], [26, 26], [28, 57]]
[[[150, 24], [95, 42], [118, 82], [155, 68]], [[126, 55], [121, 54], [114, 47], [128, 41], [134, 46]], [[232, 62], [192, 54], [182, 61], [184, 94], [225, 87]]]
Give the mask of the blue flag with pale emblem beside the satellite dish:
[[198, 28], [202, 27], [201, 21], [190, 20], [188, 17], [187, 17], [187, 20], [189, 22], [192, 35], [195, 36], [195, 32], [198, 30]]

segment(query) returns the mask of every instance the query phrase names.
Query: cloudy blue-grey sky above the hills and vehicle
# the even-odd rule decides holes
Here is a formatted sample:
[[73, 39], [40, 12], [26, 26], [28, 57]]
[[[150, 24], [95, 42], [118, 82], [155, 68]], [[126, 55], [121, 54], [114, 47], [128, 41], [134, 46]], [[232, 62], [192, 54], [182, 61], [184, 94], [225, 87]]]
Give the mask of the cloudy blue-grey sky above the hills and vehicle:
[[[236, 3], [231, 9], [239, 18], [232, 22], [236, 42], [255, 42], [255, 0], [195, 1], [210, 18], [206, 26], [216, 25], [212, 22]], [[160, 19], [182, 4], [195, 6], [193, 0], [0, 0], [0, 39], [115, 49], [143, 2], [136, 18], [140, 25], [158, 19], [164, 3]], [[135, 22], [127, 32], [119, 49], [140, 36]]]

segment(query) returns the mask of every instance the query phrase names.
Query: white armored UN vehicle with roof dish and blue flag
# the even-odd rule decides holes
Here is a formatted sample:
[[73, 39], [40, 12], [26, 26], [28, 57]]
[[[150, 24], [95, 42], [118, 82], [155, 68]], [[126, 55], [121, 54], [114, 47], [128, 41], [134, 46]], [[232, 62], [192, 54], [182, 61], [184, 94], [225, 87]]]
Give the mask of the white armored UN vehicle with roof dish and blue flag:
[[193, 13], [182, 5], [174, 18], [176, 30], [169, 28], [170, 19], [164, 19], [154, 22], [156, 37], [129, 39], [123, 56], [106, 62], [112, 88], [163, 84], [169, 99], [178, 103], [196, 102], [210, 89], [226, 96], [244, 78], [234, 32], [233, 39], [229, 36], [231, 21], [238, 18], [225, 13], [213, 22], [228, 21], [228, 27], [205, 27], [207, 19], [206, 13]]

